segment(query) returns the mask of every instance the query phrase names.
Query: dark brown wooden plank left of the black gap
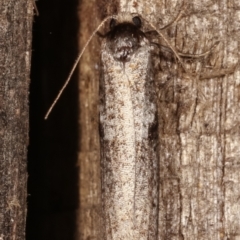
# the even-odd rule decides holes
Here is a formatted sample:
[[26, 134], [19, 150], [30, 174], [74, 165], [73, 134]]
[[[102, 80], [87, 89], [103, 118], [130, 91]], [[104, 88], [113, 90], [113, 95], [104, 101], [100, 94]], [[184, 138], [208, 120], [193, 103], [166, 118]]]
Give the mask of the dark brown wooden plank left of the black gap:
[[0, 239], [25, 239], [31, 0], [0, 2]]

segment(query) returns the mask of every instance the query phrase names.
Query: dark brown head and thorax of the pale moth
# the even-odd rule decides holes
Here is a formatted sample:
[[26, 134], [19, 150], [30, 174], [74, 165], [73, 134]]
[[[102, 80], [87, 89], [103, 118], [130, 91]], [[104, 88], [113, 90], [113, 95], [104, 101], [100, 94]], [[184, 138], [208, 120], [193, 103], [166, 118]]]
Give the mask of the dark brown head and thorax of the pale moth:
[[106, 34], [107, 46], [114, 59], [128, 62], [131, 56], [147, 43], [141, 30], [142, 20], [139, 16], [119, 15], [110, 21], [110, 31]]

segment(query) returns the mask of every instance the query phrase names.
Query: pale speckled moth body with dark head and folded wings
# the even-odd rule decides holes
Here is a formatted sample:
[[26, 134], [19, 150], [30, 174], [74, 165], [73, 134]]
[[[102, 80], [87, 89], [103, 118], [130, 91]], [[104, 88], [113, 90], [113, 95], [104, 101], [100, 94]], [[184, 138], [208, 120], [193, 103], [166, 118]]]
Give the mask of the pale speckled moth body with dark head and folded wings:
[[157, 107], [153, 46], [139, 16], [121, 13], [101, 46], [104, 239], [156, 239]]

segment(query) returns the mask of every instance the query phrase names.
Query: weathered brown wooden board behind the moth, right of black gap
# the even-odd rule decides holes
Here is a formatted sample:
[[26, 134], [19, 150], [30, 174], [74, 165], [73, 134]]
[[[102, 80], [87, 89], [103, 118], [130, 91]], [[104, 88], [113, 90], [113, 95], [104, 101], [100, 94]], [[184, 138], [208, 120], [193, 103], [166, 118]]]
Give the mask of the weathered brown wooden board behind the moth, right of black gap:
[[[195, 55], [210, 50], [202, 57], [181, 58], [182, 63], [157, 55], [158, 239], [240, 238], [239, 3], [102, 0], [92, 4], [82, 1], [79, 8], [80, 48], [99, 23], [95, 17], [128, 11], [141, 14], [156, 29], [173, 22], [161, 32], [179, 52]], [[147, 24], [145, 28], [151, 30]], [[102, 239], [100, 41], [96, 37], [90, 43], [80, 65], [79, 239]], [[168, 46], [161, 37], [159, 43]]]

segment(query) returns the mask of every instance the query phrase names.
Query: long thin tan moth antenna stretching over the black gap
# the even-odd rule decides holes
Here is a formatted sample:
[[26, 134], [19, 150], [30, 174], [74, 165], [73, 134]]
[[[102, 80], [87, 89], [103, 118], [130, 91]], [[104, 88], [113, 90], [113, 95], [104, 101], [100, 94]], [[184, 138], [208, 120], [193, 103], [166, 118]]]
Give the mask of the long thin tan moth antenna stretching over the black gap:
[[109, 18], [113, 18], [113, 17], [114, 17], [114, 16], [108, 16], [108, 17], [106, 17], [105, 19], [103, 19], [102, 22], [101, 22], [101, 23], [98, 25], [98, 27], [93, 31], [92, 35], [90, 36], [90, 38], [89, 38], [89, 39], [87, 40], [87, 42], [85, 43], [82, 51], [79, 53], [77, 59], [76, 59], [75, 62], [74, 62], [74, 65], [73, 65], [73, 67], [72, 67], [72, 69], [71, 69], [71, 72], [70, 72], [69, 75], [68, 75], [67, 80], [65, 81], [65, 83], [64, 83], [64, 85], [62, 86], [61, 90], [59, 91], [57, 97], [54, 99], [52, 105], [51, 105], [50, 108], [48, 109], [48, 111], [47, 111], [47, 113], [46, 113], [46, 115], [45, 115], [45, 117], [44, 117], [45, 120], [48, 118], [49, 114], [51, 113], [51, 111], [52, 111], [52, 109], [54, 108], [55, 104], [57, 103], [58, 99], [61, 97], [64, 89], [65, 89], [66, 86], [68, 85], [68, 83], [69, 83], [69, 81], [70, 81], [70, 79], [71, 79], [71, 77], [72, 77], [72, 75], [73, 75], [73, 72], [75, 71], [75, 69], [76, 69], [76, 67], [77, 67], [77, 65], [78, 65], [78, 63], [79, 63], [79, 61], [80, 61], [80, 59], [81, 59], [81, 57], [82, 57], [82, 55], [83, 55], [86, 47], [87, 47], [88, 44], [89, 44], [89, 42], [92, 40], [93, 36], [97, 33], [97, 31], [103, 26], [103, 24], [104, 24]]

